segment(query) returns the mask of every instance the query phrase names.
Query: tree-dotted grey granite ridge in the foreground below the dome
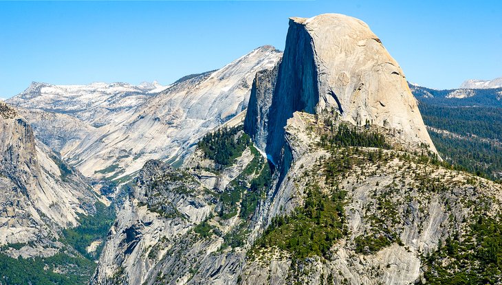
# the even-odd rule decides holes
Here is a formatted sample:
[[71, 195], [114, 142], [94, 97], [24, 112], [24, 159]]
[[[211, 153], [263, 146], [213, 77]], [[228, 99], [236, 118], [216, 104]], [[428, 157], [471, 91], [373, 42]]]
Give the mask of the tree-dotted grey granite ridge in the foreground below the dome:
[[[318, 147], [328, 130], [307, 113], [288, 119], [291, 166], [281, 181], [272, 176], [249, 216], [246, 201], [260, 176], [250, 169], [263, 167], [254, 166], [261, 155], [252, 146], [223, 168], [201, 150], [181, 170], [149, 161], [120, 209], [91, 284], [414, 284], [438, 244], [472, 236], [481, 212], [501, 209], [496, 183], [395, 150], [380, 150], [378, 158], [376, 148]], [[349, 165], [331, 174], [332, 163]], [[346, 195], [338, 209], [345, 220], [338, 227], [345, 230], [329, 251], [298, 258], [291, 247], [261, 247], [260, 238], [274, 232], [265, 230], [274, 218], [290, 215], [296, 227], [294, 213], [312, 205], [313, 191], [325, 195], [326, 208], [337, 191]], [[323, 235], [315, 219], [308, 225], [302, 231]], [[276, 230], [287, 236], [287, 229]]]

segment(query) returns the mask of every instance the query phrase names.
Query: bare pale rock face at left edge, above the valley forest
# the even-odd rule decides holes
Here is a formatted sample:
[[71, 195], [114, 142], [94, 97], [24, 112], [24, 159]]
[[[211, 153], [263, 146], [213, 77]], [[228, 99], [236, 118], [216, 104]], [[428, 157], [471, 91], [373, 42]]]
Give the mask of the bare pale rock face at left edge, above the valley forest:
[[93, 214], [99, 195], [34, 137], [17, 110], [3, 102], [0, 153], [0, 244], [31, 242], [31, 249], [8, 252], [14, 256], [57, 252], [63, 247], [54, 242], [61, 229], [78, 225], [77, 214]]

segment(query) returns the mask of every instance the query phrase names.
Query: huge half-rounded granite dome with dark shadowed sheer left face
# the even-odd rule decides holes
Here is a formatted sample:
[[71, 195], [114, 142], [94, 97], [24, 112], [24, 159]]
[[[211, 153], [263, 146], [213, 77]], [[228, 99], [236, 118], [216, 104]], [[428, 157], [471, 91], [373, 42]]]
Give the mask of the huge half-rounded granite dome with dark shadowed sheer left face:
[[269, 118], [267, 152], [279, 159], [294, 111], [336, 109], [352, 124], [395, 130], [414, 145], [430, 140], [403, 71], [362, 21], [340, 14], [290, 19]]

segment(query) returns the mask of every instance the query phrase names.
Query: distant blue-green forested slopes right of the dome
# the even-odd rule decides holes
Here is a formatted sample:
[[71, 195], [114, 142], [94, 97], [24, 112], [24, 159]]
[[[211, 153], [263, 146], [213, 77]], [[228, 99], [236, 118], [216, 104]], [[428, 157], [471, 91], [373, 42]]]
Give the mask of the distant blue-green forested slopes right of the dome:
[[416, 84], [410, 88], [441, 157], [477, 175], [502, 179], [501, 88], [435, 90]]

